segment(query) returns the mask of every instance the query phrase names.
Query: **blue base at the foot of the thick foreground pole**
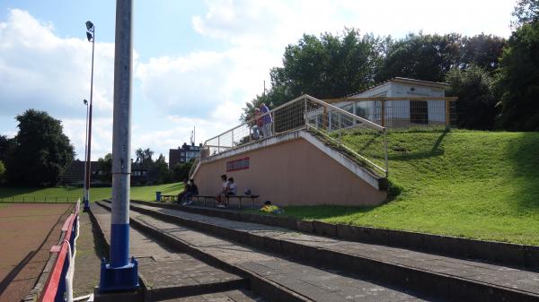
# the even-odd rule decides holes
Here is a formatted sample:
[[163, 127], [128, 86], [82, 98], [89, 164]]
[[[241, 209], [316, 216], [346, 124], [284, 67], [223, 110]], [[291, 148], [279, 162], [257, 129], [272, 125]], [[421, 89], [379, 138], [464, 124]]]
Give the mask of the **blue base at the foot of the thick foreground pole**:
[[138, 289], [138, 263], [135, 257], [128, 265], [112, 267], [102, 259], [100, 292], [128, 291]]

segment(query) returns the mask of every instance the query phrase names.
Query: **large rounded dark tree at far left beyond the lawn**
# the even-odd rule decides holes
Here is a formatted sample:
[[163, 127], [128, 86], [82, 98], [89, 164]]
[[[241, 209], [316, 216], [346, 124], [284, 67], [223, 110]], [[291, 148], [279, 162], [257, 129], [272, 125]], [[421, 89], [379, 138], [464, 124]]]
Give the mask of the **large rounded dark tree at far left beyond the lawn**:
[[55, 186], [75, 158], [73, 145], [59, 120], [45, 111], [26, 110], [16, 116], [19, 132], [7, 163], [14, 185]]

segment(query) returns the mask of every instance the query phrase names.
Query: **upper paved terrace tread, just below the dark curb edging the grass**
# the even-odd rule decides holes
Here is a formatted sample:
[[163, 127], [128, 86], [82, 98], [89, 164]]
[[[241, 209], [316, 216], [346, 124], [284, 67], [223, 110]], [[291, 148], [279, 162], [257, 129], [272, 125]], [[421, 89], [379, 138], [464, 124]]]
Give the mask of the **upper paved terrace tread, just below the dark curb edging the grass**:
[[[225, 220], [185, 211], [163, 209], [142, 204], [136, 204], [135, 206], [153, 211], [160, 211], [190, 220], [204, 221], [209, 224], [229, 229], [242, 230], [258, 236], [278, 238], [280, 240], [286, 240], [306, 246], [317, 246], [340, 253], [359, 255], [387, 263], [396, 263], [423, 271], [442, 273], [467, 280], [486, 282], [499, 287], [519, 289], [539, 294], [538, 272], [528, 272], [489, 263], [479, 263], [441, 255], [431, 255], [403, 248], [344, 241], [329, 237], [298, 233], [291, 229], [281, 229], [256, 223]], [[146, 220], [146, 217], [143, 219]]]

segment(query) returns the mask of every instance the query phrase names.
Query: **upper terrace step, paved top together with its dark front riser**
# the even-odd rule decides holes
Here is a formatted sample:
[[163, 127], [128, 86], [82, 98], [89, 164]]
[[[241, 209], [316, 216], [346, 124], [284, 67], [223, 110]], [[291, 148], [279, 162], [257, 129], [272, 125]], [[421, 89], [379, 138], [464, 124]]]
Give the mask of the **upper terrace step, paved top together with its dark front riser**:
[[539, 273], [403, 248], [349, 242], [250, 222], [131, 204], [160, 220], [311, 263], [323, 263], [429, 297], [455, 301], [539, 301]]

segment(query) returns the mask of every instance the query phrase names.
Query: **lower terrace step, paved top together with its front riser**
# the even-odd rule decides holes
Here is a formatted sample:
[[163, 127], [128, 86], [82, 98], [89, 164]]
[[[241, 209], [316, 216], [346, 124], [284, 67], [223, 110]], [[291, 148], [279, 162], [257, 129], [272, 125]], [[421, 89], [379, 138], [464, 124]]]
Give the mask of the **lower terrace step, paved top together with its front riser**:
[[[110, 208], [110, 203], [103, 203]], [[258, 248], [243, 246], [208, 232], [155, 219], [131, 208], [134, 228], [153, 229], [155, 236], [175, 242], [192, 255], [234, 268], [251, 280], [251, 288], [269, 301], [438, 301], [411, 291], [381, 286], [358, 276], [296, 263]]]

